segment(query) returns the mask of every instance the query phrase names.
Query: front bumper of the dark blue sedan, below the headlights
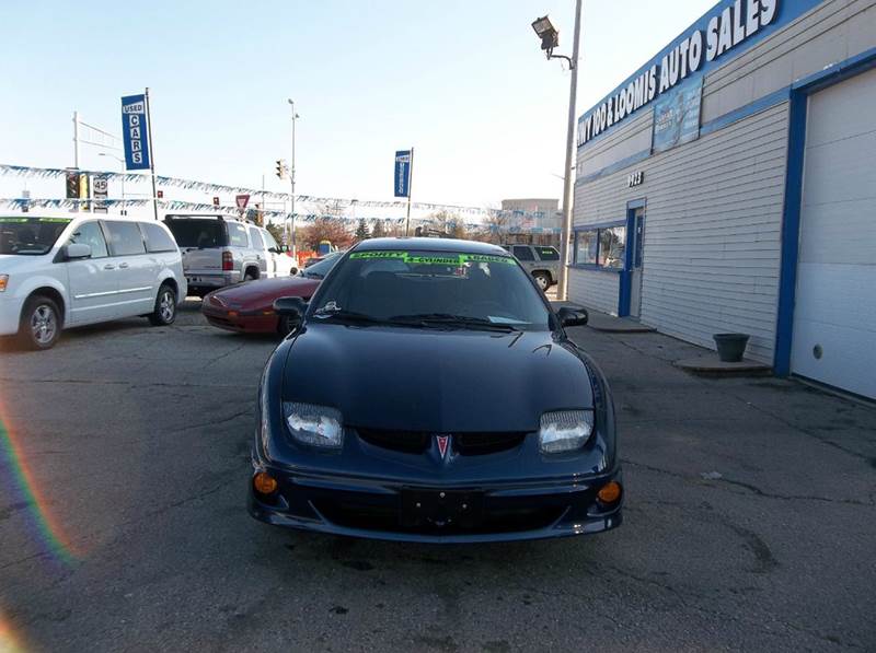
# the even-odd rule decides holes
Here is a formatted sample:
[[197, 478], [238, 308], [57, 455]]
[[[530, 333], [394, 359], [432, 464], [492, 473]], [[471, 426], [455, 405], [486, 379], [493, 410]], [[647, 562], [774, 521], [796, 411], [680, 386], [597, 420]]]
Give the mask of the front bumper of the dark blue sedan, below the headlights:
[[620, 468], [592, 477], [418, 486], [342, 475], [266, 468], [269, 497], [250, 482], [249, 512], [303, 530], [417, 543], [487, 543], [601, 533], [622, 522], [623, 495], [603, 505], [597, 492], [621, 482]]

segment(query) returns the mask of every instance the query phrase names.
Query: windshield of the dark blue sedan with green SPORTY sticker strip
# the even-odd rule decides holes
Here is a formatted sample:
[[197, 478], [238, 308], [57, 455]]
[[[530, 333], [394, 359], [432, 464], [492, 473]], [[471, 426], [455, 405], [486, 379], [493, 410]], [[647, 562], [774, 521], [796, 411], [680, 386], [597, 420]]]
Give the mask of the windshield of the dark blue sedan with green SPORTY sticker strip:
[[313, 317], [460, 328], [548, 330], [550, 313], [510, 256], [354, 252], [323, 285]]

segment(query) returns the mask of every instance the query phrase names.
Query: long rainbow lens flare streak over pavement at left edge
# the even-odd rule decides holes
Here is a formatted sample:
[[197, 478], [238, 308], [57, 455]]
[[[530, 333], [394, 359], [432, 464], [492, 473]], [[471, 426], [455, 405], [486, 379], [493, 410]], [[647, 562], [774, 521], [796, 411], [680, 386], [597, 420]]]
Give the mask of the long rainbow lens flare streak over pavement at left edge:
[[[54, 560], [69, 565], [77, 562], [77, 553], [64, 529], [49, 510], [48, 501], [39, 491], [23, 450], [16, 442], [9, 421], [0, 407], [0, 482], [10, 485], [10, 491], [26, 508], [26, 520], [34, 538], [43, 551]], [[5, 653], [0, 649], [0, 653]]]

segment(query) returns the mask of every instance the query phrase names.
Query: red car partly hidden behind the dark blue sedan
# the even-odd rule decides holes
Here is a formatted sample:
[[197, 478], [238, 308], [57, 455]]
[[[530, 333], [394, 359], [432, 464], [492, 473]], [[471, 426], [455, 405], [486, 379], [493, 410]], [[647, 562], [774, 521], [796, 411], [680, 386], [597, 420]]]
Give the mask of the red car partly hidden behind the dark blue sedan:
[[285, 336], [291, 326], [288, 318], [277, 316], [275, 300], [286, 296], [310, 300], [339, 257], [339, 252], [333, 252], [321, 263], [301, 270], [297, 277], [263, 279], [215, 290], [204, 298], [200, 312], [208, 323], [220, 329]]

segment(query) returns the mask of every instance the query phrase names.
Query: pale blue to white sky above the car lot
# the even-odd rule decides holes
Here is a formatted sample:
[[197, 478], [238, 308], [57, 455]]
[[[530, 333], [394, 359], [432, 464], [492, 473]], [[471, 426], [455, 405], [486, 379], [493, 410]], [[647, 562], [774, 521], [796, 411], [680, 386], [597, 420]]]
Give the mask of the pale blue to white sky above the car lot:
[[[585, 0], [576, 115], [714, 5]], [[120, 132], [119, 97], [150, 88], [158, 174], [286, 191], [392, 198], [415, 148], [413, 199], [497, 206], [560, 197], [574, 0], [2, 0], [0, 163], [72, 165], [72, 112]], [[80, 167], [118, 170], [82, 148]], [[21, 179], [0, 178], [0, 197]], [[56, 197], [62, 194], [60, 183]], [[53, 186], [54, 188], [54, 186]], [[45, 195], [42, 193], [41, 195]], [[111, 189], [111, 197], [113, 191]], [[36, 195], [35, 195], [36, 197]]]

